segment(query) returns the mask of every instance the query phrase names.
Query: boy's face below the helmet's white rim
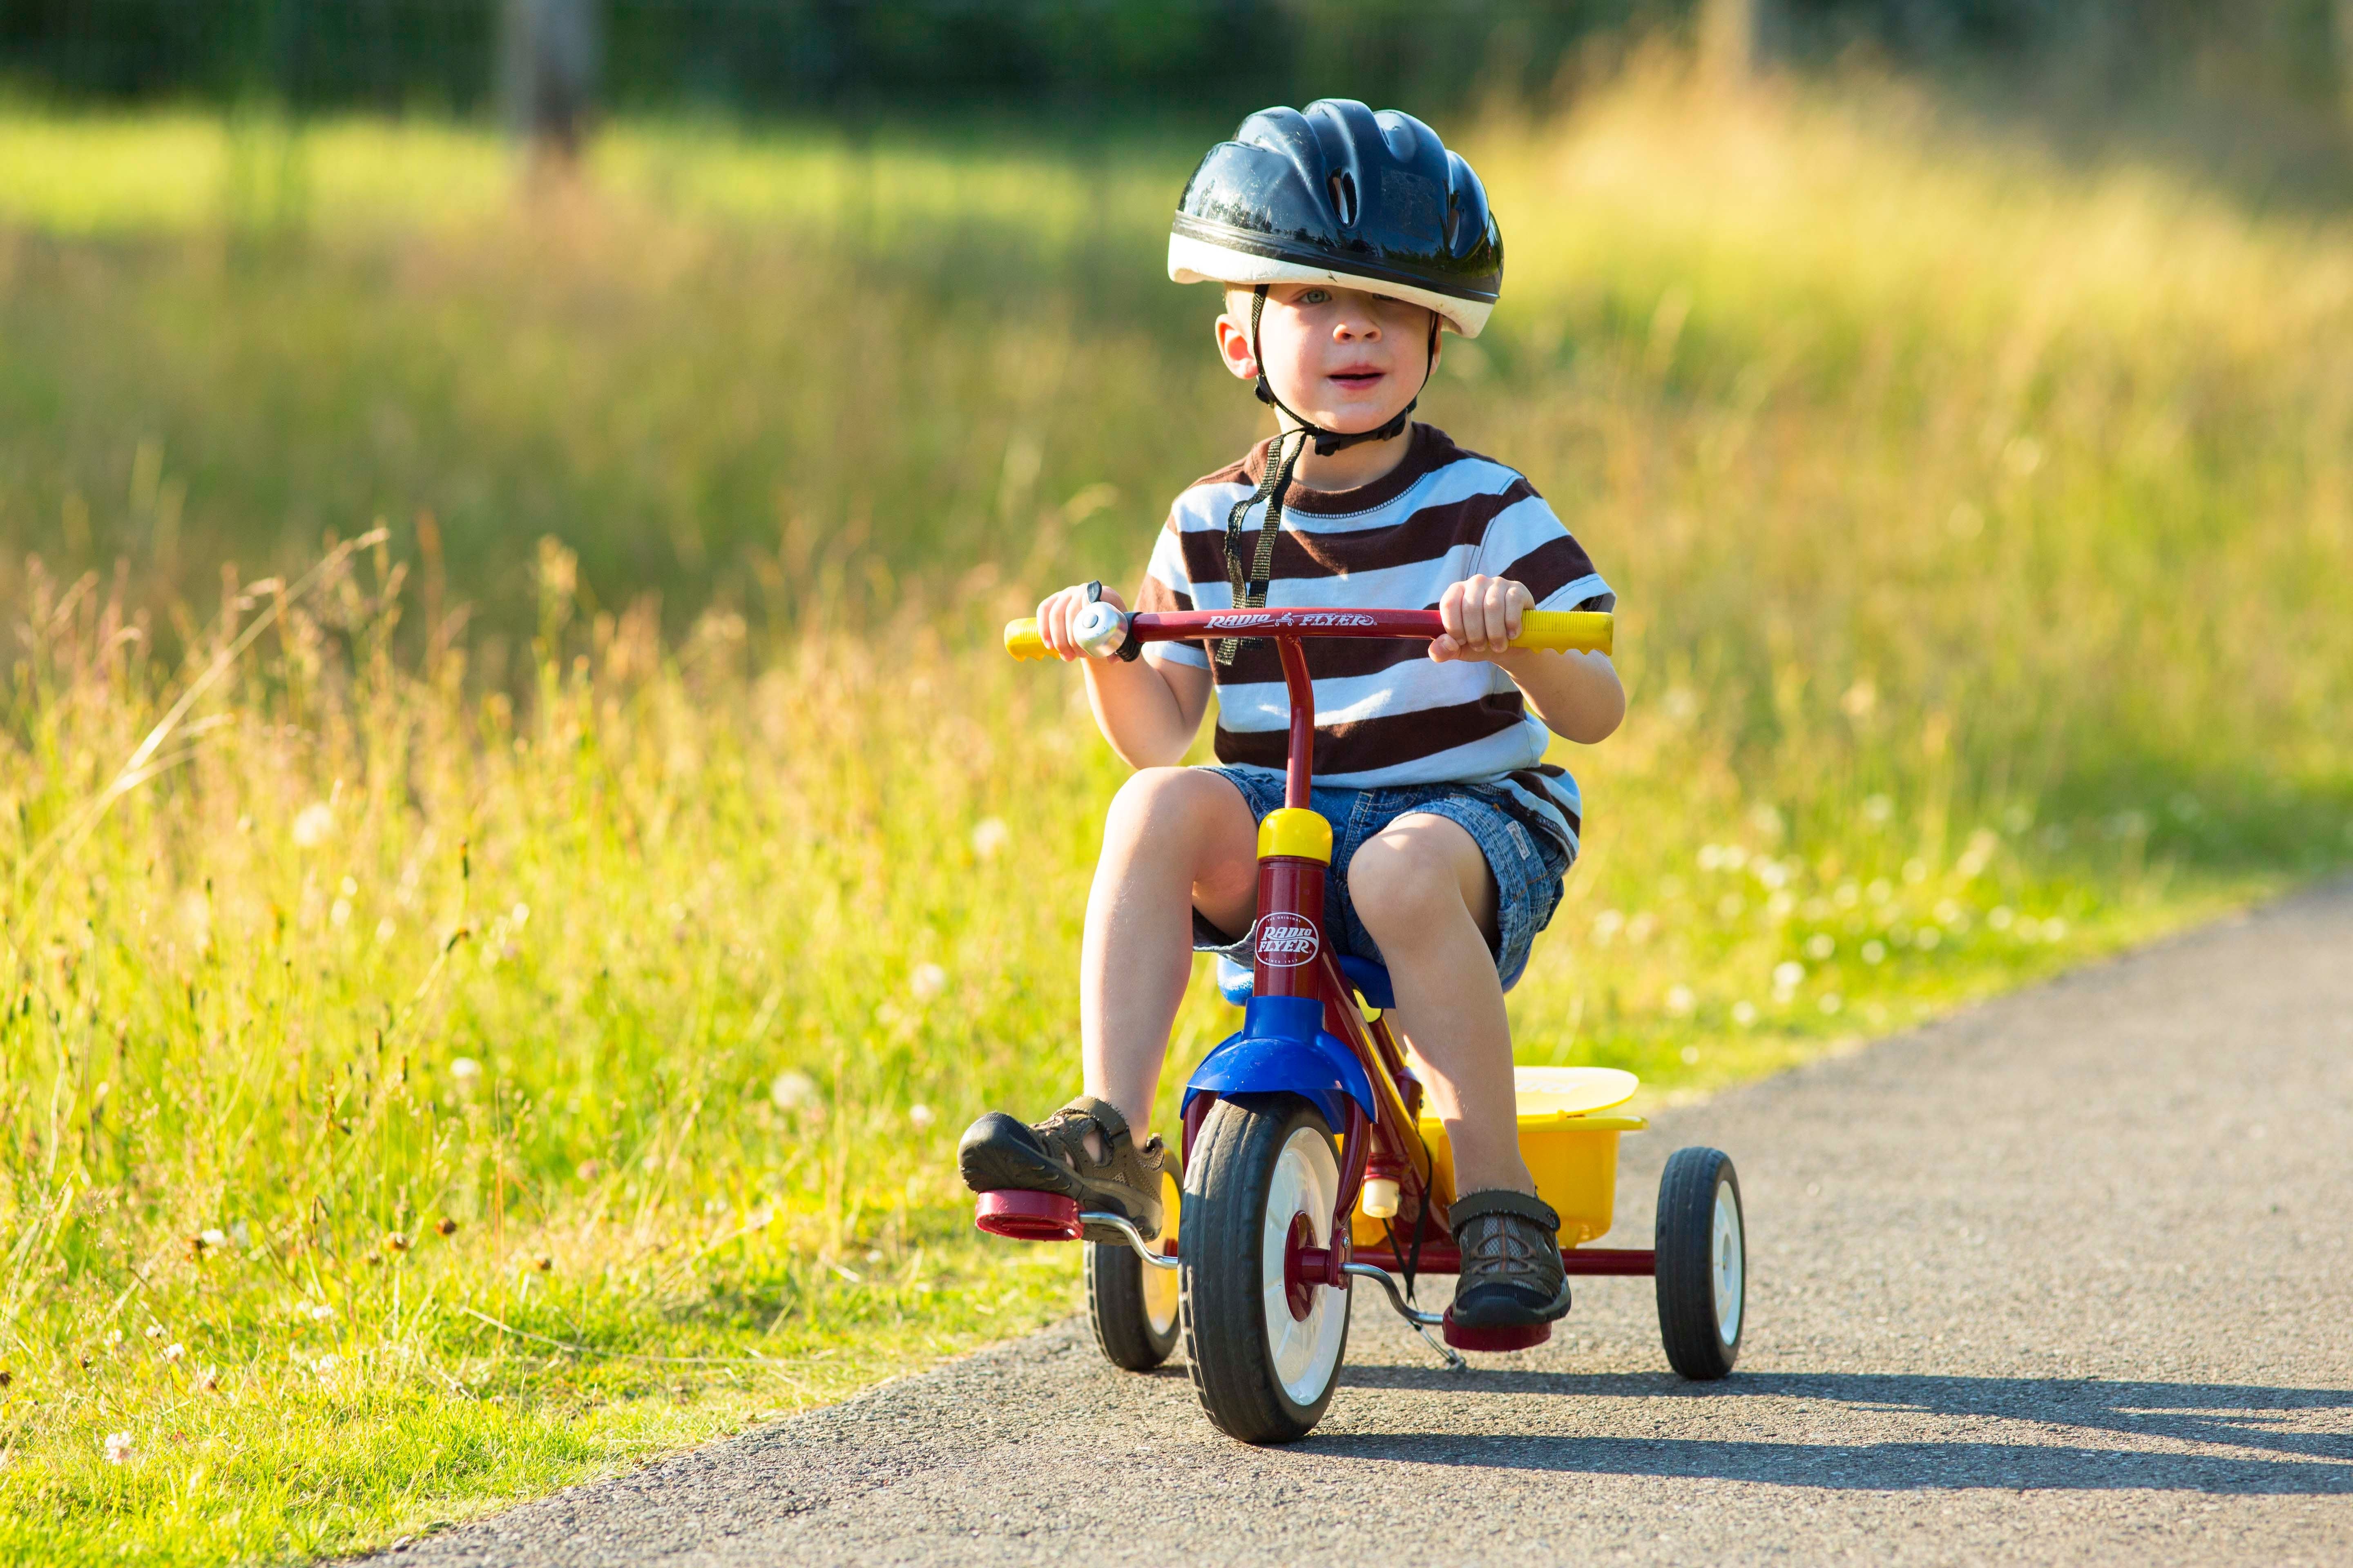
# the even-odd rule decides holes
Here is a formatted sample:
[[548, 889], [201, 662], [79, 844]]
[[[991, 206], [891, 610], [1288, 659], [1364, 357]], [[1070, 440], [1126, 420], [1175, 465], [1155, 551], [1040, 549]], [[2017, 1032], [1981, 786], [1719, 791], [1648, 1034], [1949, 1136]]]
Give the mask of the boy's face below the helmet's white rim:
[[[1242, 381], [1259, 378], [1259, 360], [1249, 355], [1249, 289], [1226, 289], [1217, 353]], [[1259, 355], [1285, 407], [1341, 435], [1386, 425], [1438, 367], [1428, 308], [1322, 282], [1278, 282], [1266, 292]]]

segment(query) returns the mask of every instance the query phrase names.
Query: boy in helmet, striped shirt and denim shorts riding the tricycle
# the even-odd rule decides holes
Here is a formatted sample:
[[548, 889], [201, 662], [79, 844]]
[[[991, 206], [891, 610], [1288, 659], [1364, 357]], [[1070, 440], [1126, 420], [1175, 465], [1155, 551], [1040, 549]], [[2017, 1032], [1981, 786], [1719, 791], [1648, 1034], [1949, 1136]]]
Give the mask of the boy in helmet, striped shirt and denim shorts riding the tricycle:
[[[1224, 284], [1217, 350], [1280, 433], [1176, 498], [1136, 609], [1440, 611], [1426, 656], [1412, 642], [1304, 644], [1313, 804], [1334, 827], [1325, 917], [1348, 952], [1388, 966], [1454, 1145], [1454, 1319], [1558, 1319], [1560, 1220], [1520, 1161], [1504, 990], [1577, 858], [1577, 785], [1544, 766], [1546, 731], [1602, 741], [1626, 696], [1607, 656], [1508, 649], [1527, 609], [1614, 597], [1527, 480], [1407, 421], [1438, 334], [1478, 336], [1501, 289], [1487, 193], [1409, 115], [1271, 108], [1186, 186], [1169, 277]], [[1066, 588], [1038, 607], [1061, 658], [1082, 658], [1071, 621], [1087, 597]], [[1257, 823], [1282, 804], [1287, 698], [1268, 642], [1120, 654], [1085, 658], [1096, 726], [1139, 769], [1111, 804], [1087, 900], [1085, 1093], [1038, 1126], [981, 1117], [960, 1164], [976, 1192], [1061, 1192], [1153, 1237], [1160, 1060], [1188, 950], [1233, 945], [1257, 914]], [[1212, 689], [1219, 766], [1186, 769]]]

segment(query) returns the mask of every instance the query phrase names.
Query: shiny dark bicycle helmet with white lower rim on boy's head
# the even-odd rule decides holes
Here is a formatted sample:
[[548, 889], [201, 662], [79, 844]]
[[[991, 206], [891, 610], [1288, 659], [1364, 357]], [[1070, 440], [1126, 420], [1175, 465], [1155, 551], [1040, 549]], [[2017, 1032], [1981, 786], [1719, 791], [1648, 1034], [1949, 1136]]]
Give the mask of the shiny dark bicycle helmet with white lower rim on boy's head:
[[1412, 115], [1353, 99], [1264, 108], [1209, 148], [1169, 226], [1176, 282], [1337, 282], [1475, 339], [1504, 292], [1487, 188]]

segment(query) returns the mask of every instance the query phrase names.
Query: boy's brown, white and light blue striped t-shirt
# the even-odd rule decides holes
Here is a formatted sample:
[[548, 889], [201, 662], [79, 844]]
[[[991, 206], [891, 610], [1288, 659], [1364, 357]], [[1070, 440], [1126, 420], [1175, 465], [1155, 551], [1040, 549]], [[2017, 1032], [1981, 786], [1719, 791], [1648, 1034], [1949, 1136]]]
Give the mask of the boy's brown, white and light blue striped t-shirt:
[[[1257, 491], [1268, 444], [1176, 496], [1136, 609], [1233, 609], [1226, 515]], [[1245, 517], [1249, 555], [1264, 517], [1264, 503]], [[1438, 609], [1447, 585], [1475, 574], [1522, 583], [1537, 609], [1617, 604], [1527, 477], [1417, 423], [1405, 461], [1372, 484], [1346, 491], [1292, 484], [1266, 604]], [[1409, 639], [1311, 637], [1301, 646], [1315, 677], [1315, 783], [1348, 790], [1499, 783], [1541, 816], [1565, 816], [1574, 853], [1577, 780], [1544, 762], [1551, 731], [1501, 668], [1431, 663], [1428, 644]], [[1209, 668], [1219, 762], [1282, 766], [1289, 698], [1273, 642], [1242, 642], [1231, 665], [1214, 663], [1198, 642], [1155, 642], [1146, 656]]]

